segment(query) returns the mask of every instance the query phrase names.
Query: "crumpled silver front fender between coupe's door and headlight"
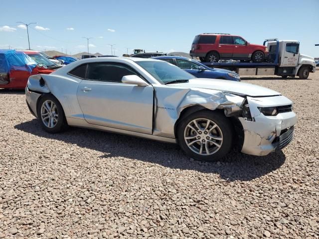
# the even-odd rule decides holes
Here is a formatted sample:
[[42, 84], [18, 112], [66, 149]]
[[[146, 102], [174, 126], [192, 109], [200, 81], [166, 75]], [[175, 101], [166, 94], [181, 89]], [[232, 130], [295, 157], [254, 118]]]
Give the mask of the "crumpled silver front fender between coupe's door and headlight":
[[174, 125], [181, 112], [192, 106], [201, 106], [208, 110], [224, 110], [226, 116], [240, 114], [244, 97], [230, 93], [191, 88], [185, 89], [166, 86], [155, 88], [155, 125], [154, 135], [174, 138]]

